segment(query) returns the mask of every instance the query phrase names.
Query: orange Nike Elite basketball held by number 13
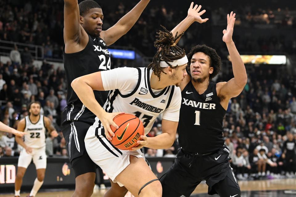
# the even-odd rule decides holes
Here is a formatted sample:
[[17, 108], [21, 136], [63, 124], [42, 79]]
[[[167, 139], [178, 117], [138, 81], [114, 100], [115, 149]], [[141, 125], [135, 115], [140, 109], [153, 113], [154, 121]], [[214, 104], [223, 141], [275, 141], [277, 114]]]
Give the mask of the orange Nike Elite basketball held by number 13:
[[128, 150], [136, 147], [140, 136], [144, 135], [143, 123], [136, 116], [131, 114], [121, 114], [113, 118], [118, 125], [118, 129], [111, 125], [111, 129], [115, 136], [112, 137], [111, 143], [121, 150]]

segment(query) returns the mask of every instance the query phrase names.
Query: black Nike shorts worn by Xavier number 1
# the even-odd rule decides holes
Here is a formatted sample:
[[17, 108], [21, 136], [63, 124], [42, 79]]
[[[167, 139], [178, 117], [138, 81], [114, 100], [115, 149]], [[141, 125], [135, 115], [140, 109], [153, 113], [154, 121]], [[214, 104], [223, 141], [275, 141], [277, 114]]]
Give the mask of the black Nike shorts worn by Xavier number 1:
[[206, 180], [209, 195], [240, 197], [240, 187], [230, 167], [228, 156], [229, 149], [226, 145], [205, 156], [196, 156], [179, 149], [174, 164], [160, 178], [162, 196], [190, 196], [196, 186]]

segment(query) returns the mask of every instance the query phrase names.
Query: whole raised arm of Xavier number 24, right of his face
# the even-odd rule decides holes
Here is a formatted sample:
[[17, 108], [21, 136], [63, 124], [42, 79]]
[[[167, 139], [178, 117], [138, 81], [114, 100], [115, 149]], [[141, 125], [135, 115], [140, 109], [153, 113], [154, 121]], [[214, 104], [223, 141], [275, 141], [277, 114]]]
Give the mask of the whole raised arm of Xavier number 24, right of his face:
[[125, 14], [114, 26], [101, 32], [101, 38], [109, 46], [126, 34], [137, 22], [150, 0], [141, 0], [132, 10]]

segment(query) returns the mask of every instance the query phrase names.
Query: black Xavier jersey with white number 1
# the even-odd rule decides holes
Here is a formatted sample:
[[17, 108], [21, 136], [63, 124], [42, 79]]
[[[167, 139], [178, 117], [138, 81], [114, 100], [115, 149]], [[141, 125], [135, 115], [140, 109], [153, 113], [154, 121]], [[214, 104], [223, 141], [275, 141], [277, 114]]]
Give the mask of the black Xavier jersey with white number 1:
[[226, 110], [221, 106], [216, 83], [210, 82], [198, 94], [190, 81], [182, 91], [179, 119], [179, 144], [184, 150], [209, 153], [223, 147], [222, 122]]

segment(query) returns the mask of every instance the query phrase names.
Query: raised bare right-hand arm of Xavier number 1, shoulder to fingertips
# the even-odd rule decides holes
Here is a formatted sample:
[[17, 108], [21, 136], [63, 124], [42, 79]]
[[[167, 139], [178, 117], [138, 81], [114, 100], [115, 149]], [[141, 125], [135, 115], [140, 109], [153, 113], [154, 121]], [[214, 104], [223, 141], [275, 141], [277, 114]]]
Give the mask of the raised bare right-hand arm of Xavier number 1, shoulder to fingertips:
[[[228, 104], [230, 98], [236, 97], [241, 94], [247, 83], [247, 72], [244, 62], [238, 53], [236, 46], [232, 40], [233, 27], [235, 22], [235, 14], [233, 12], [227, 14], [227, 29], [223, 30], [223, 41], [226, 43], [231, 62], [234, 78], [230, 79], [228, 82], [220, 82], [217, 84], [217, 88], [220, 89], [218, 95], [223, 95], [224, 103]], [[223, 103], [223, 104], [224, 104]], [[225, 107], [224, 107], [225, 108]]]

